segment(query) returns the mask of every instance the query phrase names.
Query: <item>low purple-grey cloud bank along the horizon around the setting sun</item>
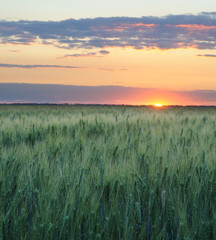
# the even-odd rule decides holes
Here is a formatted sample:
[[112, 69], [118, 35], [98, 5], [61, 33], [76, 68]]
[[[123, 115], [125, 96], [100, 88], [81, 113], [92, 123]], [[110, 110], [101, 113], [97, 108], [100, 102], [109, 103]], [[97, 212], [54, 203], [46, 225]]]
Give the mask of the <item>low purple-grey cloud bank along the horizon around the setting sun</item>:
[[152, 96], [170, 97], [173, 104], [187, 100], [188, 105], [216, 105], [216, 90], [164, 91], [121, 86], [0, 83], [0, 102], [144, 104], [152, 100]]

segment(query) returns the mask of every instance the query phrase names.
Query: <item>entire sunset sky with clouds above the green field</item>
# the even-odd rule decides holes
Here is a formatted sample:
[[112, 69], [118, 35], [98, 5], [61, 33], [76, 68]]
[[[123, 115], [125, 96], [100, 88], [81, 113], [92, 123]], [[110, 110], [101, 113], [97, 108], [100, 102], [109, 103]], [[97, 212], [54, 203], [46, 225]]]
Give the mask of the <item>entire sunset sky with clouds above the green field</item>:
[[0, 2], [0, 102], [216, 105], [216, 1]]

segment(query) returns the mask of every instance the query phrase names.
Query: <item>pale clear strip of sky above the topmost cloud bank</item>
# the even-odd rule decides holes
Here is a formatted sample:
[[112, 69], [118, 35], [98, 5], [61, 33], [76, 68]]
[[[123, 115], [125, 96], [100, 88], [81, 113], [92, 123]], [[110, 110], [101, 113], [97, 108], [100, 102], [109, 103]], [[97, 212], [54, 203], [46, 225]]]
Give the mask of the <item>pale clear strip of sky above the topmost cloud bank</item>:
[[2, 0], [0, 19], [63, 20], [94, 17], [141, 17], [216, 11], [215, 0]]

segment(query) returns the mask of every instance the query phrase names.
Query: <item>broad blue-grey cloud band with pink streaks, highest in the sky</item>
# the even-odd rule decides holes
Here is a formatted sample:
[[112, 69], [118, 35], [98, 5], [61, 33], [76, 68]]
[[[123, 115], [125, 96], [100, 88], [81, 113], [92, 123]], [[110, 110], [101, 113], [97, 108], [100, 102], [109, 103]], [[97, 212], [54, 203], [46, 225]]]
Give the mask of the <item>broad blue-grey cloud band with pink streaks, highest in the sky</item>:
[[49, 44], [63, 49], [215, 49], [216, 12], [141, 18], [0, 21], [0, 43]]

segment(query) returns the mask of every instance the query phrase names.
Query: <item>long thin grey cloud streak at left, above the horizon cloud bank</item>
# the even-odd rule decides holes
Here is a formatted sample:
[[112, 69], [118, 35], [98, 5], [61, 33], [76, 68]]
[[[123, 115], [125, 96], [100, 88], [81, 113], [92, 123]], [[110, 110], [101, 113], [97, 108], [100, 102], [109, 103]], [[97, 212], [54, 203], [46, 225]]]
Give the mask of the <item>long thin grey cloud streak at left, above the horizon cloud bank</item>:
[[22, 64], [6, 64], [0, 63], [0, 68], [69, 68], [69, 69], [76, 69], [76, 68], [83, 68], [83, 67], [76, 67], [76, 66], [62, 66], [62, 65], [22, 65]]

